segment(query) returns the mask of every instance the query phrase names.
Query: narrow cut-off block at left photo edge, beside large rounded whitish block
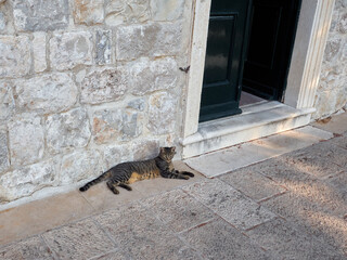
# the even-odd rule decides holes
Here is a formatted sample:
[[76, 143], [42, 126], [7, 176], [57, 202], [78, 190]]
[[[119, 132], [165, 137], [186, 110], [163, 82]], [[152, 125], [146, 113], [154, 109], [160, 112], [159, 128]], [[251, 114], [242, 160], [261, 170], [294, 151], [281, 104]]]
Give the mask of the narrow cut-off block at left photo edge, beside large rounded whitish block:
[[15, 108], [12, 86], [9, 82], [0, 82], [0, 121], [9, 119]]

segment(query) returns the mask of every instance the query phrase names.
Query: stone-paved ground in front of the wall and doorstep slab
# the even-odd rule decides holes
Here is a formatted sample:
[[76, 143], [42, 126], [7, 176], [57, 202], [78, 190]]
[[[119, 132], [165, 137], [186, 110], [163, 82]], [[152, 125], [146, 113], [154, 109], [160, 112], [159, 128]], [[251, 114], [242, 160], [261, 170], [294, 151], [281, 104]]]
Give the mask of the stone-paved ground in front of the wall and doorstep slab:
[[347, 117], [336, 118], [314, 125], [327, 141], [214, 179], [119, 196], [103, 183], [3, 210], [0, 259], [347, 259]]

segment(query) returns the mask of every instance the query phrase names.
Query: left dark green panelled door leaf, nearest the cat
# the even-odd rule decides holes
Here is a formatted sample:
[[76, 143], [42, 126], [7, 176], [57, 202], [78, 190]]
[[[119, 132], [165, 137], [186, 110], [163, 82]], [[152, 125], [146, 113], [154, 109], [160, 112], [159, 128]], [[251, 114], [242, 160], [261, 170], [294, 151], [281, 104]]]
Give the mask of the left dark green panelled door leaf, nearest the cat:
[[213, 0], [200, 121], [240, 114], [250, 0]]

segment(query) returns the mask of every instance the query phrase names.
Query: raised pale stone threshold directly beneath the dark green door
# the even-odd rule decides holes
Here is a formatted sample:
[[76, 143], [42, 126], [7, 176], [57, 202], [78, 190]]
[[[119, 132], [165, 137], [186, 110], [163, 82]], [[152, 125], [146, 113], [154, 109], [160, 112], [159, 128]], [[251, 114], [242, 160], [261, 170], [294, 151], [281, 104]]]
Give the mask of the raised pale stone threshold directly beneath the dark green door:
[[182, 158], [306, 126], [316, 109], [296, 109], [277, 101], [266, 101], [243, 106], [242, 110], [241, 115], [200, 123], [196, 133], [181, 141]]

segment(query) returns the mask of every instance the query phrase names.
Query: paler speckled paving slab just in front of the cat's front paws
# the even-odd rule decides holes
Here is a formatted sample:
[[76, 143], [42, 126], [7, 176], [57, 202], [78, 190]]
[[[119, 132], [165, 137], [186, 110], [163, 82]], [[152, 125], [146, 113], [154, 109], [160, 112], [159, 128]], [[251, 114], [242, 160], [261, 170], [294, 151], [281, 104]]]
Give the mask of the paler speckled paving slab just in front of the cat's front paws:
[[202, 181], [183, 190], [232, 225], [247, 230], [277, 216], [220, 180]]

